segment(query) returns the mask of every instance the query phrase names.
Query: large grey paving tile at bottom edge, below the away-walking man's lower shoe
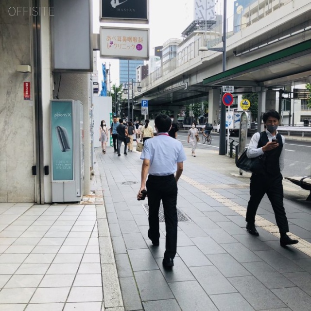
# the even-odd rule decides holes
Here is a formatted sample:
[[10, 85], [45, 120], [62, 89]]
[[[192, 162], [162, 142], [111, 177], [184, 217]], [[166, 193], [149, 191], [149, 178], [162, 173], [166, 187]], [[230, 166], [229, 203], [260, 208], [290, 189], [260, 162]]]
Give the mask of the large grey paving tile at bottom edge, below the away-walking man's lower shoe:
[[173, 282], [169, 285], [182, 311], [217, 311], [197, 281]]

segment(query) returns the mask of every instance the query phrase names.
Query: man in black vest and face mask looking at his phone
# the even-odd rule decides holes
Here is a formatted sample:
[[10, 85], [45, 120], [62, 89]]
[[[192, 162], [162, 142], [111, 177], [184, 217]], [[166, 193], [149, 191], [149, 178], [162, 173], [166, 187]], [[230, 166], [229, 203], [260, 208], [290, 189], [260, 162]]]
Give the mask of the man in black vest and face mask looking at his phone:
[[277, 126], [280, 116], [276, 110], [268, 110], [262, 116], [266, 130], [261, 133], [255, 133], [249, 143], [247, 156], [254, 158], [264, 156], [262, 173], [252, 173], [250, 181], [250, 199], [246, 212], [246, 230], [258, 236], [259, 233], [255, 227], [255, 216], [258, 206], [264, 194], [267, 194], [276, 217], [276, 225], [280, 232], [281, 246], [298, 243], [298, 240], [292, 240], [288, 235], [288, 221], [283, 205], [283, 176], [281, 171], [284, 168], [285, 157], [285, 138], [277, 133]]

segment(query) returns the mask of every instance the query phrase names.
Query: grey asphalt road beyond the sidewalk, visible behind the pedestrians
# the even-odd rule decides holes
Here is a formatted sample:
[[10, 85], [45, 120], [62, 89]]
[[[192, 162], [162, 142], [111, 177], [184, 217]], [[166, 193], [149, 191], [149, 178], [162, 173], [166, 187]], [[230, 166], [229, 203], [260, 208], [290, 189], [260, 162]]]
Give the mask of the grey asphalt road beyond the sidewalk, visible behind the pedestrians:
[[[187, 143], [187, 132], [179, 131], [177, 139], [180, 140], [184, 147], [190, 148], [190, 144]], [[211, 133], [212, 142], [210, 145], [203, 144], [202, 141], [198, 142], [198, 149], [219, 149], [219, 135], [217, 133]], [[202, 134], [200, 133], [200, 139]], [[230, 137], [235, 140], [239, 140], [238, 137]], [[247, 145], [251, 137], [247, 138]], [[282, 172], [283, 176], [307, 176], [311, 174], [311, 141], [297, 141], [286, 139], [285, 145], [285, 168]]]

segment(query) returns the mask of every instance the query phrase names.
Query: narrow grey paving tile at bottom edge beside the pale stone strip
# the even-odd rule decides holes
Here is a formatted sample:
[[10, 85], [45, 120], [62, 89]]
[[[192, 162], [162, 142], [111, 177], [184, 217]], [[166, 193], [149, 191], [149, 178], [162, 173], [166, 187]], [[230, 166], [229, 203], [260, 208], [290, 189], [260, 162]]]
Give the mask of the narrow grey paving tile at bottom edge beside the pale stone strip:
[[140, 295], [134, 277], [120, 277], [119, 280], [125, 310], [141, 310]]

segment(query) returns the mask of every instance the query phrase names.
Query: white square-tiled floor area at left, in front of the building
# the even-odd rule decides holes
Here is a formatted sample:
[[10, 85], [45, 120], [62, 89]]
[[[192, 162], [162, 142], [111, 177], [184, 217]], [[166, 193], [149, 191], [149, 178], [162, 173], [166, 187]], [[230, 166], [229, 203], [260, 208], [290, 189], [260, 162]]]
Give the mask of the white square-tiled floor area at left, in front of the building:
[[96, 207], [0, 203], [0, 310], [100, 311]]

